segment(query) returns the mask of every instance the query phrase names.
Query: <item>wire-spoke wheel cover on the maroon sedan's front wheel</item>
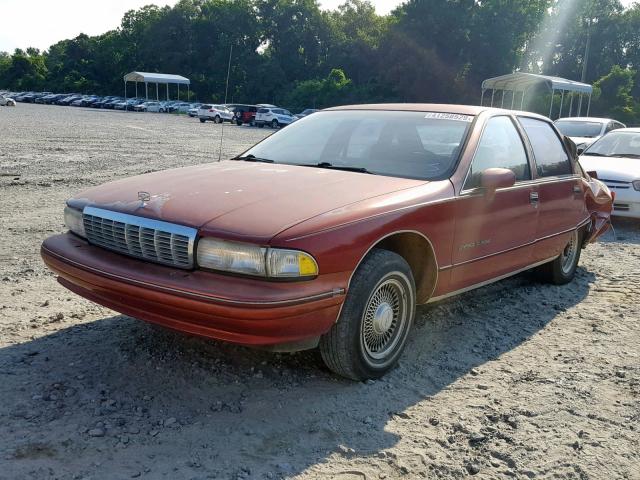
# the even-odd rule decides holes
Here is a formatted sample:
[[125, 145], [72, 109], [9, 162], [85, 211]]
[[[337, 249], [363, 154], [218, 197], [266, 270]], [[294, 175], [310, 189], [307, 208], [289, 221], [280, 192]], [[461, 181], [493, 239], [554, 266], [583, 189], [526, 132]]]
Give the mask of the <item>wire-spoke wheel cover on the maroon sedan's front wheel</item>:
[[385, 363], [406, 335], [410, 307], [406, 285], [393, 272], [385, 276], [364, 308], [360, 342], [368, 361]]

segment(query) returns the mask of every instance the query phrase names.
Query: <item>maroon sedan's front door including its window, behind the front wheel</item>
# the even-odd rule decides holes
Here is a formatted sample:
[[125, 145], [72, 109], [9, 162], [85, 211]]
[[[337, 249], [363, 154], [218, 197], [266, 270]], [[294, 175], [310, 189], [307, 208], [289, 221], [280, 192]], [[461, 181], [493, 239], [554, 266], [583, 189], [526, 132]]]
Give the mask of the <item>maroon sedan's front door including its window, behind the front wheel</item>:
[[[513, 187], [488, 195], [480, 188], [487, 168], [507, 168]], [[510, 116], [490, 118], [456, 199], [451, 290], [507, 275], [532, 263], [537, 228], [537, 186], [523, 138]]]

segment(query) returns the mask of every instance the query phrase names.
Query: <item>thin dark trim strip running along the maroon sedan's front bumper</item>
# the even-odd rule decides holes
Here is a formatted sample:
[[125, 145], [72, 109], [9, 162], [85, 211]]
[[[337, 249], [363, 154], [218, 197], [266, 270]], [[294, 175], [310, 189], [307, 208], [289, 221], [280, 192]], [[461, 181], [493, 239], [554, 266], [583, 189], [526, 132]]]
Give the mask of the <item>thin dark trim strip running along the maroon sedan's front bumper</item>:
[[126, 283], [130, 283], [132, 285], [136, 285], [136, 286], [141, 286], [141, 287], [148, 287], [148, 288], [152, 288], [154, 290], [159, 290], [165, 293], [170, 293], [170, 294], [175, 294], [175, 295], [180, 295], [183, 297], [187, 297], [187, 298], [193, 298], [196, 300], [207, 300], [209, 302], [212, 303], [223, 303], [223, 304], [228, 304], [228, 305], [254, 305], [254, 306], [275, 306], [275, 307], [280, 307], [280, 306], [288, 306], [288, 305], [298, 305], [301, 303], [307, 303], [307, 302], [311, 302], [314, 300], [324, 300], [325, 298], [333, 298], [336, 297], [338, 295], [344, 295], [345, 294], [345, 289], [344, 288], [334, 288], [333, 290], [329, 291], [329, 292], [323, 292], [323, 293], [318, 293], [316, 295], [309, 295], [307, 297], [299, 297], [299, 298], [293, 298], [291, 300], [276, 300], [276, 301], [269, 301], [269, 302], [257, 302], [257, 301], [250, 301], [250, 300], [229, 300], [226, 298], [220, 298], [220, 297], [214, 297], [212, 295], [204, 295], [201, 293], [194, 293], [194, 292], [188, 292], [186, 290], [181, 290], [179, 288], [171, 288], [171, 287], [165, 287], [163, 285], [158, 285], [155, 283], [151, 283], [151, 282], [144, 282], [142, 280], [135, 280], [133, 278], [129, 278], [129, 277], [125, 277], [122, 275], [116, 275], [115, 273], [110, 273], [110, 272], [105, 272], [104, 270], [100, 270], [99, 268], [94, 268], [94, 267], [90, 267], [88, 265], [83, 265], [79, 262], [76, 262], [74, 260], [71, 260], [63, 255], [60, 255], [58, 253], [55, 253], [51, 250], [49, 250], [46, 247], [41, 247], [42, 250], [44, 250], [48, 255], [51, 255], [54, 258], [57, 258], [58, 260], [68, 263], [69, 265], [73, 265], [76, 268], [79, 268], [81, 270], [85, 270], [85, 271], [89, 271], [92, 273], [95, 273], [97, 275], [101, 275], [103, 277], [107, 277], [110, 278], [112, 280], [119, 280], [119, 281], [123, 281]]

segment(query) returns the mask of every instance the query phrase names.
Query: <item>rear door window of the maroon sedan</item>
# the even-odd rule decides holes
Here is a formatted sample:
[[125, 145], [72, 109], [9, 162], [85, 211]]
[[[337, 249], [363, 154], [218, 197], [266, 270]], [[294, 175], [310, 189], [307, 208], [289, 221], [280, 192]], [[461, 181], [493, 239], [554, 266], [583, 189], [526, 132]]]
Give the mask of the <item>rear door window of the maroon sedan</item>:
[[551, 126], [534, 118], [520, 117], [519, 120], [533, 148], [538, 176], [571, 175], [573, 169], [569, 156]]

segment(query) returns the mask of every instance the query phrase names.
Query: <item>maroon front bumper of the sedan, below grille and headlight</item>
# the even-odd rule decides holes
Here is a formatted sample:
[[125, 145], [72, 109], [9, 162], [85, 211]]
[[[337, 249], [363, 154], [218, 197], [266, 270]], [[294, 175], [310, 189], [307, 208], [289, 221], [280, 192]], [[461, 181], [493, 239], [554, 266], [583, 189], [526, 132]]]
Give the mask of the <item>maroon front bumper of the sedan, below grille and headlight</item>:
[[156, 265], [89, 245], [70, 233], [41, 255], [69, 290], [118, 312], [243, 345], [313, 341], [336, 321], [348, 272], [269, 282]]

